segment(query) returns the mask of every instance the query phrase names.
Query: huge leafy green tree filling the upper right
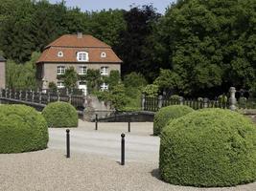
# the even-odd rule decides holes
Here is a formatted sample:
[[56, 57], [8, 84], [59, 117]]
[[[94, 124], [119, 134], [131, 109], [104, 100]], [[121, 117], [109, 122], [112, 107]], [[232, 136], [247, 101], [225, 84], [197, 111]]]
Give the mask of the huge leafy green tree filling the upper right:
[[250, 0], [195, 0], [178, 1], [167, 10], [157, 28], [160, 61], [180, 78], [179, 91], [213, 96], [226, 87], [252, 86], [254, 8]]

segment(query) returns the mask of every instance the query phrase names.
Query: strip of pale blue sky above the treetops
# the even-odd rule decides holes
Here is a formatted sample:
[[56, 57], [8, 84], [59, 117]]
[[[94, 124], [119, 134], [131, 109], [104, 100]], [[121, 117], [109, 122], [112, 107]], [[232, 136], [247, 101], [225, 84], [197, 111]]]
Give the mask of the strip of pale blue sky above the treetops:
[[[49, 0], [51, 3], [60, 0]], [[101, 11], [108, 9], [129, 10], [130, 5], [141, 6], [152, 4], [158, 12], [164, 13], [175, 0], [65, 0], [67, 7], [79, 7], [81, 11]]]

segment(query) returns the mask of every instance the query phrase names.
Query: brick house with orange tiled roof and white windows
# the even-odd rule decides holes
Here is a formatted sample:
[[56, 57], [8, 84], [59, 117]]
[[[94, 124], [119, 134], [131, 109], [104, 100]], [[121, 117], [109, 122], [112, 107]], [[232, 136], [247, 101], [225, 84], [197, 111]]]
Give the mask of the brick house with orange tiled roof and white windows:
[[[111, 70], [121, 72], [122, 60], [113, 52], [110, 46], [92, 35], [65, 34], [45, 47], [36, 62], [36, 77], [39, 86], [47, 89], [50, 82], [64, 88], [63, 81], [58, 80], [58, 74], [64, 74], [65, 69], [74, 67], [78, 74], [86, 74], [87, 69], [100, 70], [102, 75], [110, 74]], [[78, 81], [78, 88], [86, 95], [86, 81]], [[102, 84], [107, 89], [107, 84]]]

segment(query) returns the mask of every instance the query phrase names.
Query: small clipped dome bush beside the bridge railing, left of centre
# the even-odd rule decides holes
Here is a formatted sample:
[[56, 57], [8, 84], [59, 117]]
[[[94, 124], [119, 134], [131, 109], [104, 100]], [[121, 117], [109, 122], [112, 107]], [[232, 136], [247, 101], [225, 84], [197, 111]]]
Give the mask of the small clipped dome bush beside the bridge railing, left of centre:
[[42, 111], [49, 127], [77, 127], [79, 117], [77, 110], [62, 101], [49, 103]]

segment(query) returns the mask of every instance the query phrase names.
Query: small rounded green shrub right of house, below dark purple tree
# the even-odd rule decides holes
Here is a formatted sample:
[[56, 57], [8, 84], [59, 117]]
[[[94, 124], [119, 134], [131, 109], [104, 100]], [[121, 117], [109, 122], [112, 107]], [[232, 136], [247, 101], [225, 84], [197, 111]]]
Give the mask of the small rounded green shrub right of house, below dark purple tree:
[[143, 74], [132, 72], [125, 75], [124, 84], [126, 87], [136, 87], [140, 89], [145, 87], [148, 83]]

